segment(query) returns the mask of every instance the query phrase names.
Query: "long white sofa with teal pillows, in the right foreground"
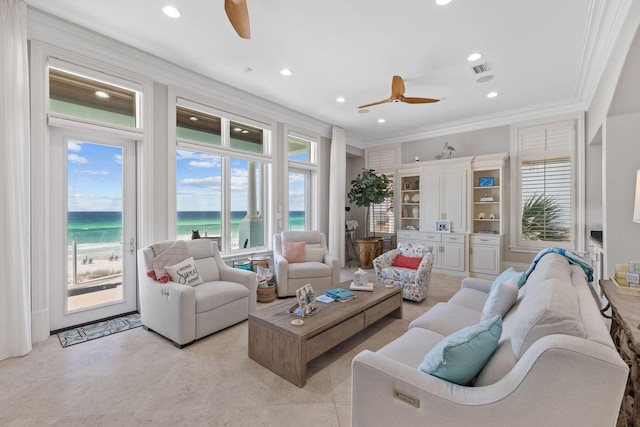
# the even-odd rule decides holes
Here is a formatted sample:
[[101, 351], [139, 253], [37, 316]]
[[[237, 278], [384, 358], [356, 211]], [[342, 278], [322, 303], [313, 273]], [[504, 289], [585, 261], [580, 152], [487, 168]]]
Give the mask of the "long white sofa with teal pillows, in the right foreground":
[[[449, 302], [415, 319], [401, 337], [353, 359], [353, 427], [616, 425], [628, 367], [584, 272], [562, 255], [543, 256], [516, 289], [498, 347], [473, 383], [454, 384], [418, 369], [446, 336], [480, 321], [491, 284], [463, 279]], [[541, 297], [546, 311], [539, 315]], [[559, 333], [572, 319], [582, 337]], [[523, 339], [530, 346], [514, 354], [513, 344]]]

